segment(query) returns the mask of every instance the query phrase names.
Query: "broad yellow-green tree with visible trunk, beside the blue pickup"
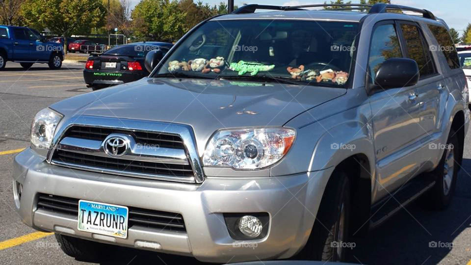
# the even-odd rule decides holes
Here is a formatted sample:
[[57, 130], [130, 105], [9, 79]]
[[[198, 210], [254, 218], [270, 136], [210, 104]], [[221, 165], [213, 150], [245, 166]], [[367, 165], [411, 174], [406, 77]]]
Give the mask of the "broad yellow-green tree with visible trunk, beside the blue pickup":
[[[39, 30], [49, 28], [63, 37], [89, 34], [102, 27], [106, 9], [102, 0], [26, 0], [22, 7], [25, 24]], [[67, 39], [64, 52], [67, 52]]]

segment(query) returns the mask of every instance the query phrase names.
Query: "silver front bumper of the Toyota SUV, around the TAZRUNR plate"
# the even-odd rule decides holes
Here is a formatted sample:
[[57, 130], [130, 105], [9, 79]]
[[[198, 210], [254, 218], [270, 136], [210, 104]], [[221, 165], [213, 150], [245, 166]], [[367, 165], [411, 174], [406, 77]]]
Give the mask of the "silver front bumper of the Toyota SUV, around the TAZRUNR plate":
[[[201, 185], [191, 185], [53, 166], [26, 149], [15, 158], [13, 178], [23, 185], [21, 201], [14, 185], [17, 211], [26, 225], [37, 230], [127, 247], [156, 242], [160, 248], [145, 249], [227, 263], [288, 258], [300, 250], [332, 171], [276, 178], [208, 178]], [[131, 227], [128, 238], [103, 238], [78, 231], [77, 217], [37, 209], [38, 193], [181, 213], [186, 233]], [[243, 244], [232, 239], [225, 212], [268, 212], [267, 236]]]

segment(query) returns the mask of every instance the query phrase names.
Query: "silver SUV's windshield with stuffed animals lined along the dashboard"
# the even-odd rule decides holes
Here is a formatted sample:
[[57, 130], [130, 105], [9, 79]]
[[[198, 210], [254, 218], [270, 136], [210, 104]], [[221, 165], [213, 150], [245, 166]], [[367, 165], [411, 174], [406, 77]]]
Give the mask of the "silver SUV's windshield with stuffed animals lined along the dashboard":
[[199, 27], [154, 75], [289, 79], [344, 87], [357, 23], [222, 20]]

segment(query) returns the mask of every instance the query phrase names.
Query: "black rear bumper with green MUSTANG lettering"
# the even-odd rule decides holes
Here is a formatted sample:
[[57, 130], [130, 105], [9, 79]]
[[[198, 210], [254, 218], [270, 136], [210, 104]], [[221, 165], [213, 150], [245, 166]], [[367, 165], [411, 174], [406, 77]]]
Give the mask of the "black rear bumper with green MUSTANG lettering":
[[149, 73], [145, 71], [109, 71], [109, 70], [83, 70], [83, 79], [89, 85], [93, 84], [123, 84], [145, 78]]

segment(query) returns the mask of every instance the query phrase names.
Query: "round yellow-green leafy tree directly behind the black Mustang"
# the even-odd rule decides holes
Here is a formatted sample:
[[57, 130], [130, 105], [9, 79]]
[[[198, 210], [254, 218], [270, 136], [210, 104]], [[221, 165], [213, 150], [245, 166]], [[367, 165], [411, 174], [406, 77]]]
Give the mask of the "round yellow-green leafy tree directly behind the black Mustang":
[[135, 36], [145, 41], [176, 41], [185, 32], [186, 13], [176, 0], [141, 0], [132, 11]]

